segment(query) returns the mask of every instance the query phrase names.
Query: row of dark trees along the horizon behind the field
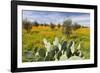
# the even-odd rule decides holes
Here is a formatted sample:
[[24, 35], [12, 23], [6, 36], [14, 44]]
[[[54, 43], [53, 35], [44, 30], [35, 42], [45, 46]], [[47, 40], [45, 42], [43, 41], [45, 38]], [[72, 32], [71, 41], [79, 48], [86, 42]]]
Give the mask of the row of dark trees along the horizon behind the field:
[[22, 25], [23, 28], [27, 31], [30, 32], [30, 30], [32, 29], [32, 26], [38, 27], [38, 26], [50, 26], [51, 29], [55, 29], [55, 27], [60, 28], [62, 27], [62, 31], [64, 34], [66, 34], [68, 37], [70, 36], [70, 34], [72, 33], [72, 30], [77, 30], [79, 28], [87, 28], [85, 26], [81, 26], [80, 24], [78, 24], [77, 22], [75, 22], [74, 24], [72, 24], [72, 20], [71, 19], [67, 19], [63, 22], [63, 24], [54, 24], [54, 23], [38, 23], [37, 21], [34, 22], [30, 22], [27, 19], [22, 21]]

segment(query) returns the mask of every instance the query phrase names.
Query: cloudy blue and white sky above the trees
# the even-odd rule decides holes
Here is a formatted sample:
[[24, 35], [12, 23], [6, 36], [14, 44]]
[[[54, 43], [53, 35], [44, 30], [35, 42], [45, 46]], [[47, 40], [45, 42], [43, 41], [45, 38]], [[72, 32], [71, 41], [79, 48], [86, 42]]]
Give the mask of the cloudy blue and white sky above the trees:
[[22, 15], [23, 20], [27, 18], [31, 22], [62, 24], [65, 20], [71, 19], [73, 24], [77, 22], [84, 26], [90, 26], [89, 13], [23, 10]]

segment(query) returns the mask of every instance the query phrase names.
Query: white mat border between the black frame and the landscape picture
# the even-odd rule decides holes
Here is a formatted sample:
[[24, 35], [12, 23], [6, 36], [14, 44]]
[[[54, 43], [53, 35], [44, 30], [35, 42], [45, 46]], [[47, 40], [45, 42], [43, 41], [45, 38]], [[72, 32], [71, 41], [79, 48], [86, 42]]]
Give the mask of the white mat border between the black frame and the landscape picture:
[[[62, 12], [82, 12], [90, 13], [90, 59], [89, 60], [67, 60], [67, 61], [51, 61], [51, 62], [30, 62], [22, 63], [22, 10], [41, 10], [41, 11], [62, 11]], [[57, 65], [76, 65], [76, 64], [93, 64], [94, 63], [94, 10], [92, 9], [77, 9], [77, 8], [58, 8], [58, 7], [40, 7], [40, 6], [18, 6], [18, 68], [25, 67], [43, 67], [43, 66], [57, 66]]]

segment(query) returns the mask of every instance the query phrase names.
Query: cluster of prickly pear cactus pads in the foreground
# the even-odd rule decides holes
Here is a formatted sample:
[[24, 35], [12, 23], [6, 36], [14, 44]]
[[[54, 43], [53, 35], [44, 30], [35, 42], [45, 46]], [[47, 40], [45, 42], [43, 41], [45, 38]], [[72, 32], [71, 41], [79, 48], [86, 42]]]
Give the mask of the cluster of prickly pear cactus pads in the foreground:
[[65, 61], [65, 60], [81, 60], [84, 58], [81, 51], [81, 44], [78, 42], [75, 47], [75, 41], [64, 41], [55, 37], [55, 40], [51, 44], [47, 39], [43, 39], [44, 48], [35, 48], [34, 51], [26, 51], [26, 61]]

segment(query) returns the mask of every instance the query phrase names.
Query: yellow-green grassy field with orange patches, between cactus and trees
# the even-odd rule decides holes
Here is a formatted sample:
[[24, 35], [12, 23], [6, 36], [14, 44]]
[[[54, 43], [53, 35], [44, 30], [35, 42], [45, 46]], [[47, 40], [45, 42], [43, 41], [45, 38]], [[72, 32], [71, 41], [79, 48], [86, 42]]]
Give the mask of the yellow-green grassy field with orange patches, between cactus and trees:
[[62, 27], [51, 29], [49, 26], [33, 26], [31, 32], [27, 33], [26, 30], [22, 30], [22, 61], [25, 62], [24, 52], [32, 51], [34, 48], [44, 48], [43, 39], [46, 38], [52, 43], [58, 37], [59, 40], [74, 40], [81, 42], [81, 50], [84, 54], [84, 59], [90, 58], [90, 28], [79, 28], [76, 31], [72, 31], [69, 38], [62, 34]]

